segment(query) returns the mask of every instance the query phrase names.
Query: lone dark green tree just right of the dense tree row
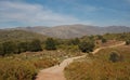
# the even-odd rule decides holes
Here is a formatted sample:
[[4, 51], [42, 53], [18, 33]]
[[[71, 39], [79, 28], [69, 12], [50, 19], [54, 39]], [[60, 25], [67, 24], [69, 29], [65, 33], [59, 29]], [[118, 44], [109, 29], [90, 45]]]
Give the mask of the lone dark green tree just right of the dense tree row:
[[53, 38], [48, 38], [46, 41], [46, 49], [47, 50], [56, 50], [56, 44]]

